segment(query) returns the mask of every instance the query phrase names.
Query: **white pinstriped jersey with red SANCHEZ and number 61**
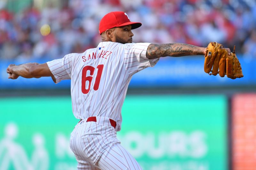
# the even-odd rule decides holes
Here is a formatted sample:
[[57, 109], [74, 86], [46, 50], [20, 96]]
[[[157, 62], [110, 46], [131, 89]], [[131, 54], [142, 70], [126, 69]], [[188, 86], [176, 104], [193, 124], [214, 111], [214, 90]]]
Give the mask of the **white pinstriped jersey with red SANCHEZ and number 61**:
[[149, 44], [100, 42], [84, 53], [47, 62], [55, 83], [71, 79], [72, 109], [77, 119], [108, 117], [116, 121], [117, 131], [121, 129], [121, 108], [132, 75], [159, 60], [146, 57]]

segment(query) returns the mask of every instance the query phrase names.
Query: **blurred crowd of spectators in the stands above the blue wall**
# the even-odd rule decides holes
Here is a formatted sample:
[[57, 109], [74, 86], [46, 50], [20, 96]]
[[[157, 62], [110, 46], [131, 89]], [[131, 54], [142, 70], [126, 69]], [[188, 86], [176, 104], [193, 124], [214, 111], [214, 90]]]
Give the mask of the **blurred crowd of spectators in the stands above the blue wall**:
[[[210, 41], [256, 56], [254, 0], [63, 0], [38, 9], [33, 3], [17, 12], [0, 9], [0, 58], [23, 62], [81, 53], [101, 41], [100, 19], [110, 11], [125, 11], [134, 42], [181, 42], [206, 47]], [[43, 36], [41, 27], [51, 32]], [[231, 49], [232, 50], [232, 49]]]

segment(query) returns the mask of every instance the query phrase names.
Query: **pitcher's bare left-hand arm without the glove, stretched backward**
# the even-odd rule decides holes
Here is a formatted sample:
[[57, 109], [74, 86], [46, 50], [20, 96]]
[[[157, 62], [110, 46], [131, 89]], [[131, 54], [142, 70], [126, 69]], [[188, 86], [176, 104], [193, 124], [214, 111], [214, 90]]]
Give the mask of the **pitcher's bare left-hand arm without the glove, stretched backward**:
[[47, 63], [10, 64], [6, 72], [9, 74], [8, 78], [11, 79], [16, 79], [19, 76], [24, 78], [53, 77]]

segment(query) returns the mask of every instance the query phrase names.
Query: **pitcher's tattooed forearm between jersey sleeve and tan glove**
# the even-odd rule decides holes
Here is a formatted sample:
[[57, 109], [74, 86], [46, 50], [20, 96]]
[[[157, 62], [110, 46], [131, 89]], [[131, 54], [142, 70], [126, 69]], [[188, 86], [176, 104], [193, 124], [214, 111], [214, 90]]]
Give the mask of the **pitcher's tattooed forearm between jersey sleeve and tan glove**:
[[204, 55], [205, 48], [190, 44], [172, 43], [172, 44], [150, 44], [146, 56], [148, 59], [172, 56], [181, 57], [186, 55]]

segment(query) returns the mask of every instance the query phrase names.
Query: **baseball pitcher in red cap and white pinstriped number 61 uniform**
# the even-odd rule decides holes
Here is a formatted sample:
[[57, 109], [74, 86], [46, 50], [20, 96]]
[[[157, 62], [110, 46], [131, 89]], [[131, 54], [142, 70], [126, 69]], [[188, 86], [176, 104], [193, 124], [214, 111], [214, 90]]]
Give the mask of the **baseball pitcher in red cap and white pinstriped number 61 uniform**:
[[[214, 57], [219, 54], [218, 50], [225, 56], [215, 58], [224, 60], [234, 54], [218, 43], [207, 48], [181, 43], [132, 43], [132, 29], [140, 26], [141, 23], [131, 22], [124, 12], [110, 12], [100, 21], [102, 41], [96, 48], [43, 64], [10, 64], [7, 68], [11, 79], [49, 76], [55, 83], [71, 79], [73, 114], [80, 121], [71, 133], [70, 148], [76, 156], [79, 170], [141, 169], [116, 138], [116, 132], [121, 129], [121, 109], [132, 75], [154, 67], [160, 57], [205, 55], [205, 63], [207, 65], [210, 61], [207, 65], [210, 68], [211, 64], [217, 63]], [[209, 73], [211, 69], [206, 71]], [[231, 77], [235, 78], [234, 75]]]

